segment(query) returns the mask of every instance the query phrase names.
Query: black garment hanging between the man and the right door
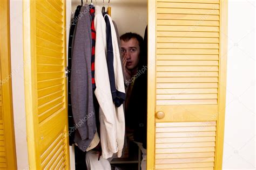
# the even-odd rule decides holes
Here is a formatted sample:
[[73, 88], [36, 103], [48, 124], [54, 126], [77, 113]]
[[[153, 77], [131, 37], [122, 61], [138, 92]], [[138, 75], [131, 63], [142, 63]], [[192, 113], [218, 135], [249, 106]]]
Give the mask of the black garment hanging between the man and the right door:
[[[126, 124], [134, 129], [134, 141], [147, 144], [147, 27], [143, 41], [143, 49], [138, 63], [139, 76], [134, 82], [130, 103], [127, 108]], [[135, 118], [134, 118], [135, 117]]]

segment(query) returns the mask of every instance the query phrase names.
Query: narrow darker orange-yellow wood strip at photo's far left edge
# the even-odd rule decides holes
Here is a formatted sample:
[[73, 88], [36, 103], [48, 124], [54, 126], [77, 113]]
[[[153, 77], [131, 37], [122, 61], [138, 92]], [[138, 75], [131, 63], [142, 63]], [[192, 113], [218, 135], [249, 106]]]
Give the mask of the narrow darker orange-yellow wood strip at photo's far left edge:
[[10, 76], [10, 2], [0, 1], [0, 6], [0, 168], [17, 169]]

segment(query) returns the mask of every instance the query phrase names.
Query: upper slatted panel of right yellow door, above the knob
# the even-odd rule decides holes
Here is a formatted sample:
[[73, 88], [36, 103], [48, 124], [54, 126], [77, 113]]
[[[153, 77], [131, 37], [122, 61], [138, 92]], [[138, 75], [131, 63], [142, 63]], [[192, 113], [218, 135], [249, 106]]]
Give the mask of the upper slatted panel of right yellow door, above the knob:
[[157, 104], [217, 104], [219, 3], [158, 1], [156, 24]]

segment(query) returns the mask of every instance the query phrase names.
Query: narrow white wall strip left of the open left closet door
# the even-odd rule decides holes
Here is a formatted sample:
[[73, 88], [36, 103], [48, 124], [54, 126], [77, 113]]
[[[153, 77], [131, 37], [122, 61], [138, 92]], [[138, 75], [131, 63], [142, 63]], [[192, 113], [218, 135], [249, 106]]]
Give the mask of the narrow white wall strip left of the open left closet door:
[[10, 38], [12, 71], [12, 104], [18, 169], [28, 169], [28, 145], [26, 142], [26, 114], [24, 96], [22, 1], [10, 0]]

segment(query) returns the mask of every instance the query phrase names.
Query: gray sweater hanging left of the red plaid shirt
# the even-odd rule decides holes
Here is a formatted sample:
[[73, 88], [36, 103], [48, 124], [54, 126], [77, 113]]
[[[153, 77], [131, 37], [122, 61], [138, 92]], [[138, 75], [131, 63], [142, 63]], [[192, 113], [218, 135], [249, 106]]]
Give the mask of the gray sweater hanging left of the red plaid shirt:
[[71, 103], [76, 124], [75, 143], [85, 151], [96, 132], [93, 106], [91, 56], [91, 15], [89, 6], [82, 6], [73, 39], [71, 70]]

